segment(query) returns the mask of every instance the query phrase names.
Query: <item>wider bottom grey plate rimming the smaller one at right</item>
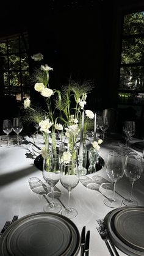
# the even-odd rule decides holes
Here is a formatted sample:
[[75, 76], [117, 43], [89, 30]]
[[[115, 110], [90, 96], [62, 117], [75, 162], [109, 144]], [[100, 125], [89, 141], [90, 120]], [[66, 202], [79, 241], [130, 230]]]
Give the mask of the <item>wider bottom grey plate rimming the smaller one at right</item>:
[[[117, 223], [115, 221], [115, 218], [117, 218], [119, 213], [122, 213], [123, 211], [128, 211], [129, 213], [131, 211], [144, 211], [144, 207], [121, 207], [117, 208], [115, 210], [110, 211], [106, 217], [104, 218], [104, 222], [107, 226], [107, 230], [109, 232], [109, 236], [115, 244], [115, 246], [118, 247], [121, 251], [123, 251], [125, 254], [129, 256], [143, 256], [144, 253], [142, 251], [139, 251], [139, 249], [135, 249], [134, 247], [129, 246], [129, 244], [123, 240], [121, 240], [120, 236], [118, 235], [118, 230], [117, 230]], [[127, 219], [128, 221], [128, 219]], [[135, 225], [132, 223], [131, 225]], [[131, 228], [132, 229], [132, 228]], [[133, 230], [134, 231], [134, 230]], [[119, 231], [120, 232], [120, 231]]]

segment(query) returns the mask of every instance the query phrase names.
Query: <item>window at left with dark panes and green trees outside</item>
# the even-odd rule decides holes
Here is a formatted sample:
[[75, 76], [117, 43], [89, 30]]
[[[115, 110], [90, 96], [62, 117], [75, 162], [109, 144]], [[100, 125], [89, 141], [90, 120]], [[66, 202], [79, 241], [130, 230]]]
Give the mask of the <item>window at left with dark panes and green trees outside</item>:
[[27, 33], [0, 38], [0, 86], [4, 95], [23, 101], [29, 97], [29, 59]]

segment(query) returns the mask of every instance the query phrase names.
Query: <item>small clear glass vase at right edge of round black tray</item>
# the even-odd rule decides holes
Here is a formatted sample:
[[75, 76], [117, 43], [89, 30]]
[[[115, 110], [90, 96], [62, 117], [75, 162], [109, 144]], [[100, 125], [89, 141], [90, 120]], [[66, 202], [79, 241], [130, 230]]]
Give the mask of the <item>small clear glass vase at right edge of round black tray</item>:
[[87, 174], [93, 174], [93, 172], [96, 172], [96, 162], [98, 161], [99, 153], [98, 150], [95, 150], [94, 147], [91, 147], [88, 152], [88, 160], [89, 160], [89, 167]]

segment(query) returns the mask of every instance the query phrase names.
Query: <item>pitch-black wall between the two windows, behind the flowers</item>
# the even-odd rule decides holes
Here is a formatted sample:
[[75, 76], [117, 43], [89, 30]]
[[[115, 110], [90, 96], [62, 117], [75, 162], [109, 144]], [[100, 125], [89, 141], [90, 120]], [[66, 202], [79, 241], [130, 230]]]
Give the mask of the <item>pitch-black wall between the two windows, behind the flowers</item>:
[[117, 106], [123, 13], [144, 9], [143, 1], [50, 0], [32, 7], [24, 1], [2, 5], [0, 37], [28, 31], [29, 56], [43, 53], [45, 63], [54, 68], [51, 87], [68, 83], [70, 75], [92, 79], [91, 109]]

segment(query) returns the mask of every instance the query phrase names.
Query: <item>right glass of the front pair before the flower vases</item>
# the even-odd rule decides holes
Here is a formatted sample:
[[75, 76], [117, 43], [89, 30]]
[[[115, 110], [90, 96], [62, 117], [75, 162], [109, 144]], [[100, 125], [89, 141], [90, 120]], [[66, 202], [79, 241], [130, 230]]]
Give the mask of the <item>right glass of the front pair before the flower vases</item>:
[[77, 216], [77, 211], [70, 207], [70, 194], [72, 189], [76, 188], [79, 183], [77, 161], [72, 157], [68, 161], [63, 161], [61, 170], [62, 175], [60, 177], [60, 182], [62, 186], [68, 190], [68, 207], [62, 210], [62, 215], [73, 219]]

